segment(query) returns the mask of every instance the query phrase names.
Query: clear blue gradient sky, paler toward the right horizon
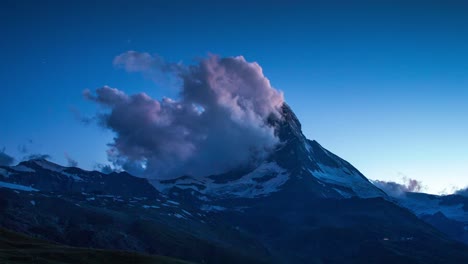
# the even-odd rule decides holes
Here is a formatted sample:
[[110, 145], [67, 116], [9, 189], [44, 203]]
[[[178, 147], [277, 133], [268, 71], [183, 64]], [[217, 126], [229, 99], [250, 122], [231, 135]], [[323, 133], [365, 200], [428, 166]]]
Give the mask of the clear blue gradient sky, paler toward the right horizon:
[[176, 97], [113, 67], [118, 54], [213, 53], [257, 61], [304, 134], [368, 178], [468, 186], [466, 1], [57, 2], [1, 4], [0, 149], [17, 161], [106, 162], [111, 132], [74, 114], [96, 111], [86, 88]]

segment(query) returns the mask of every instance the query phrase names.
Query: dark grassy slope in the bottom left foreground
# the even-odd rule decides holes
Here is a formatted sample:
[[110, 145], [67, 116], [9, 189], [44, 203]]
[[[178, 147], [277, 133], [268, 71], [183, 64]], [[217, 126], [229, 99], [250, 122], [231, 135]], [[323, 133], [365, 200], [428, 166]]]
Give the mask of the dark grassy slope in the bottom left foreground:
[[34, 239], [0, 228], [0, 263], [158, 263], [188, 262], [132, 252], [68, 247]]

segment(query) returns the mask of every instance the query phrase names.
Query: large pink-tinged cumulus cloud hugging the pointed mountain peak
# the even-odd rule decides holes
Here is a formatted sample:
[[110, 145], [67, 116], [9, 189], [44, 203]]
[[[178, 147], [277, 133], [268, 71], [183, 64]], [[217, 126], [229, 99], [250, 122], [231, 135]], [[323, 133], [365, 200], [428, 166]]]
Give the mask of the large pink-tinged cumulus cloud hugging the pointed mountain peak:
[[116, 134], [108, 150], [115, 166], [148, 177], [207, 175], [261, 160], [278, 143], [266, 121], [281, 118], [283, 94], [255, 62], [210, 55], [185, 66], [129, 51], [114, 64], [180, 80], [177, 99], [128, 95], [108, 86], [84, 92], [107, 109], [98, 119]]

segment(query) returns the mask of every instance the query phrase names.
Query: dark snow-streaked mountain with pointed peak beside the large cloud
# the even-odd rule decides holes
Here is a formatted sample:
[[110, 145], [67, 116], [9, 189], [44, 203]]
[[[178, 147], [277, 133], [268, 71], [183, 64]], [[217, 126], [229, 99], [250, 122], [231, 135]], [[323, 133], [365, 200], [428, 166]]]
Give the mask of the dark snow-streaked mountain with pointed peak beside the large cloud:
[[308, 140], [289, 106], [281, 143], [219, 175], [147, 180], [45, 160], [0, 167], [0, 225], [67, 245], [196, 263], [463, 263], [468, 247]]

